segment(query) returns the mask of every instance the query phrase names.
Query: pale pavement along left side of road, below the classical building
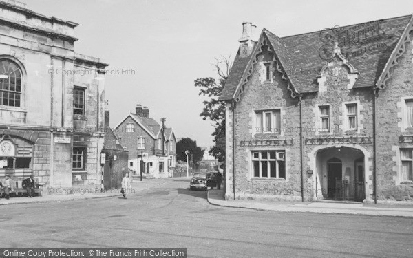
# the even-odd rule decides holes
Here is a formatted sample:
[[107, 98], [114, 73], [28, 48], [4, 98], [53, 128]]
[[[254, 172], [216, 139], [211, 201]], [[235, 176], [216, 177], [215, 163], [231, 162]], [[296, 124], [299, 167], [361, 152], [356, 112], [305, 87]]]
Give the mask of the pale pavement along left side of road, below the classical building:
[[[137, 193], [139, 191], [144, 191], [151, 189], [160, 184], [167, 182], [167, 179], [144, 179], [142, 181], [133, 180], [131, 182], [131, 194]], [[0, 205], [6, 204], [31, 204], [31, 203], [43, 203], [43, 202], [67, 202], [74, 200], [85, 200], [85, 199], [96, 199], [96, 198], [105, 198], [105, 197], [114, 197], [117, 195], [122, 195], [120, 189], [107, 189], [103, 192], [94, 191], [94, 189], [81, 189], [75, 193], [67, 193], [69, 189], [58, 188], [60, 194], [47, 194], [45, 191], [48, 189], [43, 189], [42, 196], [35, 197], [10, 197], [10, 199], [1, 198]], [[73, 188], [70, 188], [73, 189]], [[56, 189], [52, 189], [56, 192]], [[66, 191], [67, 190], [67, 191]], [[66, 194], [65, 194], [66, 193]]]

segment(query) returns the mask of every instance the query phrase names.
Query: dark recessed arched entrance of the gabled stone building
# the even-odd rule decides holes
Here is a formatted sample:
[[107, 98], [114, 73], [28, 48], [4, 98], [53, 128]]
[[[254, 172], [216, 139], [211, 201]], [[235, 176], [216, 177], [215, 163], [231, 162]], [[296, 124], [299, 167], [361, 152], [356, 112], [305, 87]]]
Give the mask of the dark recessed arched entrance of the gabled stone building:
[[332, 146], [315, 153], [318, 199], [362, 202], [365, 193], [365, 155], [352, 147]]

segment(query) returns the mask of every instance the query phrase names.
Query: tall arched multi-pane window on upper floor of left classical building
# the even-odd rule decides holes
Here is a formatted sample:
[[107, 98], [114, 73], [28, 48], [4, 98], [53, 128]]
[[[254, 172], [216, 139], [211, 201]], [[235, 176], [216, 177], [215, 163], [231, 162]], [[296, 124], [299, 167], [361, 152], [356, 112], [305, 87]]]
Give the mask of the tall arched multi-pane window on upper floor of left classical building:
[[0, 105], [21, 105], [21, 70], [8, 59], [0, 59]]

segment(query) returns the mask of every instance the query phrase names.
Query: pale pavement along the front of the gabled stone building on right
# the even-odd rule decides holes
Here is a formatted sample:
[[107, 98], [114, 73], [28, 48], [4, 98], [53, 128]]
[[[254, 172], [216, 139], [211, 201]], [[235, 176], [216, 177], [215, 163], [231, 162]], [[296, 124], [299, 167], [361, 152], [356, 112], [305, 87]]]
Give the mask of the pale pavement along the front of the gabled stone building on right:
[[208, 191], [208, 202], [217, 206], [248, 208], [257, 211], [299, 213], [337, 213], [392, 217], [413, 217], [413, 204], [363, 204], [344, 202], [284, 202], [256, 200], [225, 200], [224, 190]]

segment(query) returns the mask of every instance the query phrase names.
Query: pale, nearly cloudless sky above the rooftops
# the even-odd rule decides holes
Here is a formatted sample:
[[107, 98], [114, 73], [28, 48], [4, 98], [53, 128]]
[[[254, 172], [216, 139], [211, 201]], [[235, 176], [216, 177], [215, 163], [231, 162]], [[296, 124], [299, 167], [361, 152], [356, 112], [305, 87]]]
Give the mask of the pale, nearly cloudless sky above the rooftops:
[[20, 1], [34, 12], [79, 23], [75, 52], [109, 63], [115, 74], [105, 78], [105, 98], [112, 127], [139, 103], [155, 120], [166, 118], [177, 138], [206, 147], [213, 145], [213, 123], [199, 116], [206, 98], [193, 81], [218, 78], [215, 57], [235, 56], [243, 21], [290, 36], [413, 13], [411, 0]]

